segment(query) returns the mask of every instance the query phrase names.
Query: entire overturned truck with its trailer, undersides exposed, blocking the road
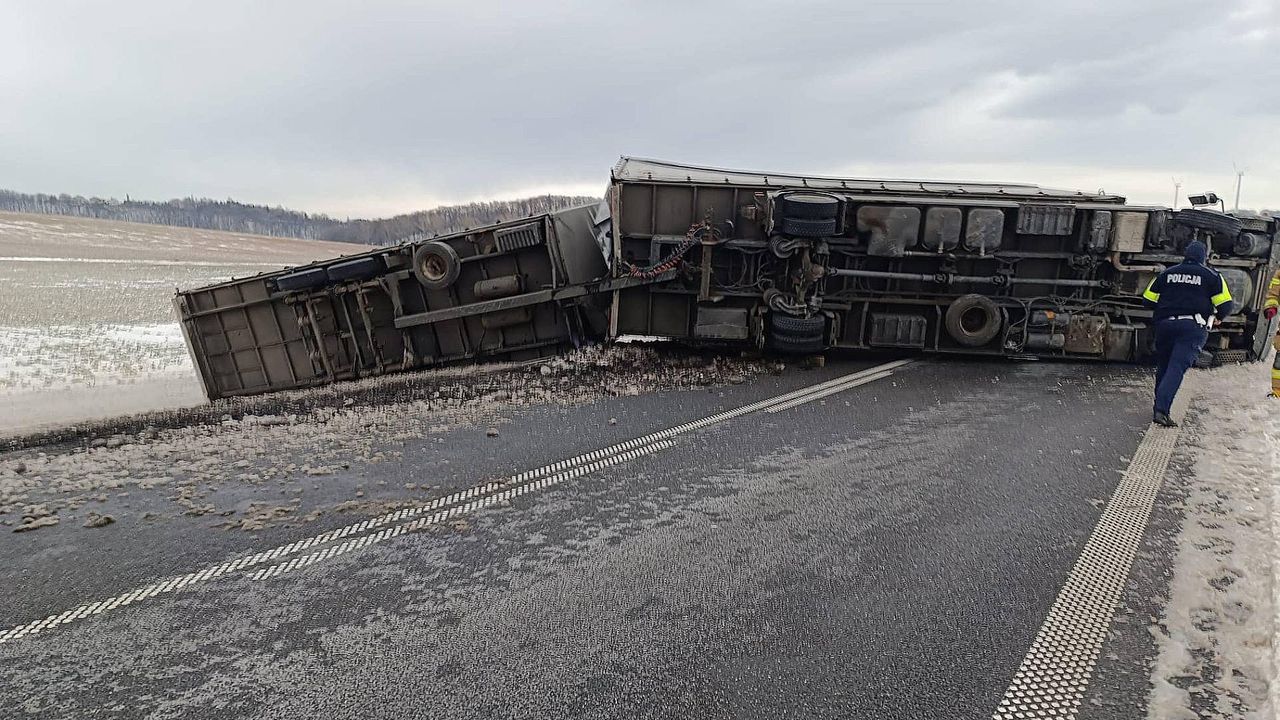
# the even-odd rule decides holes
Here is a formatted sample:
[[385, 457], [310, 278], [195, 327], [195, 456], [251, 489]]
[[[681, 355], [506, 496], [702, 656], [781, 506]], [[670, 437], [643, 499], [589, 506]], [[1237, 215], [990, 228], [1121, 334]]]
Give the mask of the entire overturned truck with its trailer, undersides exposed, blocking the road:
[[1143, 361], [1140, 293], [1192, 240], [1235, 299], [1206, 363], [1257, 360], [1280, 223], [1027, 184], [623, 158], [600, 205], [180, 291], [210, 398], [620, 336]]

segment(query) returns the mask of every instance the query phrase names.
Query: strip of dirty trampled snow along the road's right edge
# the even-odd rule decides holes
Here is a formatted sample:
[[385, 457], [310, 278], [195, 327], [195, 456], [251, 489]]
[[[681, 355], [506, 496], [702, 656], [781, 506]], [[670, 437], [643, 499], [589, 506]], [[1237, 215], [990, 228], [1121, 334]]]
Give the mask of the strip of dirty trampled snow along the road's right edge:
[[1180, 441], [1192, 473], [1169, 605], [1152, 626], [1148, 717], [1270, 719], [1277, 706], [1280, 401], [1265, 397], [1268, 373], [1257, 363], [1196, 374]]

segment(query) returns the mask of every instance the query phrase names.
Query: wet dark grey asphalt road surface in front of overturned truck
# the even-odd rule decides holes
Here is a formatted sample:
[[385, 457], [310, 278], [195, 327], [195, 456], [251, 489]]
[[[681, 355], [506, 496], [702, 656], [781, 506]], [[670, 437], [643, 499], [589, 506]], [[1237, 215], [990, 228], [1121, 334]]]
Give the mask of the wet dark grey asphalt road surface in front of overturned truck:
[[[524, 409], [499, 438], [325, 482], [462, 491], [869, 365]], [[0, 716], [991, 717], [1148, 388], [1124, 366], [916, 363], [328, 542], [351, 519], [5, 533], [0, 632], [133, 600], [0, 643]], [[1158, 594], [1167, 553], [1144, 543], [1130, 596]], [[1140, 707], [1144, 634], [1115, 629], [1082, 717]]]

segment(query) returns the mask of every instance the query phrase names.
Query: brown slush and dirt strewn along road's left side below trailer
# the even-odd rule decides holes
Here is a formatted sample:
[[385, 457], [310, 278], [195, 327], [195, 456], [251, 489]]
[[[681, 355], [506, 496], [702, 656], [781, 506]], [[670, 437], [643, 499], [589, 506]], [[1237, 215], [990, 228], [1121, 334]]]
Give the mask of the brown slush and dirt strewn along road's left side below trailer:
[[[298, 524], [325, 512], [380, 512], [394, 507], [362, 500], [360, 486], [353, 497], [321, 509], [302, 511], [302, 498], [321, 489], [326, 475], [398, 459], [398, 446], [410, 439], [468, 428], [475, 442], [500, 442], [504, 415], [518, 406], [742, 383], [764, 372], [781, 372], [781, 365], [618, 345], [520, 366], [371, 378], [69, 428], [0, 454], [0, 525], [29, 532], [69, 516], [97, 528], [110, 521], [101, 520], [101, 503], [114, 500], [116, 507], [129, 492], [152, 488], [161, 488], [168, 502], [147, 519], [210, 516], [228, 529]], [[252, 489], [255, 500], [219, 505], [229, 486]], [[397, 502], [411, 503], [435, 488], [406, 489], [412, 495]]]

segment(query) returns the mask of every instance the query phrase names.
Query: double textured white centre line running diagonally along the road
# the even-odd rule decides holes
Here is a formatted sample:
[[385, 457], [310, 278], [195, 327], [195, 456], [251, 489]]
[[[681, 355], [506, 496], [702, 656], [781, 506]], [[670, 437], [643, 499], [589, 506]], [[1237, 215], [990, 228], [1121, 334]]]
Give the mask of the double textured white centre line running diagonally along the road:
[[[818, 400], [819, 397], [826, 397], [828, 395], [841, 392], [868, 382], [882, 379], [892, 374], [892, 370], [902, 368], [913, 363], [911, 360], [897, 360], [893, 363], [886, 363], [883, 365], [877, 365], [874, 368], [868, 368], [865, 370], [859, 370], [856, 373], [850, 373], [847, 375], [841, 375], [838, 378], [818, 383], [814, 386], [803, 387], [796, 391], [791, 391], [783, 395], [769, 397], [758, 402], [751, 402], [749, 405], [742, 405], [732, 410], [726, 410], [723, 413], [717, 413], [716, 415], [709, 415], [700, 420], [692, 420], [689, 423], [682, 423], [659, 430], [655, 433], [649, 433], [643, 437], [628, 439], [626, 442], [611, 445], [600, 450], [594, 450], [582, 455], [570, 457], [567, 460], [559, 460], [549, 465], [534, 470], [526, 470], [517, 475], [502, 480], [494, 480], [467, 488], [461, 492], [448, 495], [433, 500], [431, 502], [419, 505], [415, 507], [407, 507], [404, 510], [397, 510], [394, 512], [388, 512], [370, 520], [364, 520], [344, 528], [338, 528], [335, 530], [329, 530], [319, 536], [305, 538], [288, 544], [282, 544], [279, 547], [257, 552], [247, 557], [241, 557], [236, 560], [228, 560], [211, 565], [202, 570], [195, 573], [188, 573], [186, 575], [179, 575], [174, 578], [165, 578], [156, 583], [148, 584], [143, 588], [138, 588], [133, 592], [110, 597], [92, 603], [81, 605], [60, 615], [50, 615], [41, 620], [35, 620], [27, 623], [26, 625], [17, 625], [9, 628], [8, 630], [0, 632], [0, 644], [12, 642], [26, 635], [36, 634], [44, 632], [49, 628], [56, 626], [64, 623], [72, 623], [79, 619], [88, 618], [90, 615], [100, 615], [101, 612], [109, 610], [116, 610], [119, 607], [125, 607], [140, 600], [146, 600], [156, 597], [160, 594], [175, 592], [179, 589], [186, 589], [188, 587], [205, 583], [227, 574], [239, 573], [247, 568], [253, 568], [256, 565], [264, 565], [274, 562], [280, 557], [285, 557], [297, 552], [316, 548], [317, 546], [328, 544], [335, 541], [344, 541], [335, 546], [330, 546], [324, 550], [317, 550], [307, 555], [285, 560], [278, 565], [271, 565], [269, 568], [262, 568], [256, 570], [251, 578], [256, 580], [265, 580], [269, 578], [275, 578], [285, 573], [293, 571], [298, 568], [306, 568], [351, 552], [353, 550], [360, 550], [383, 542], [389, 538], [399, 537], [404, 533], [419, 530], [428, 525], [433, 525], [451, 518], [457, 518], [458, 515], [474, 512], [481, 507], [488, 507], [503, 500], [511, 500], [513, 497], [520, 497], [534, 491], [544, 489], [570, 479], [580, 478], [621, 462], [626, 462], [640, 457], [643, 455], [649, 455], [659, 450], [666, 450], [675, 446], [672, 438], [699, 430], [710, 425], [717, 425], [726, 423], [735, 418], [748, 415], [751, 413], [758, 413], [760, 410], [769, 410], [772, 407], [785, 405], [786, 409], [796, 407], [805, 402]], [[413, 519], [410, 523], [403, 523], [394, 527], [394, 523], [401, 520]], [[370, 530], [383, 528], [372, 534], [361, 534]], [[360, 537], [352, 537], [360, 536]]]

